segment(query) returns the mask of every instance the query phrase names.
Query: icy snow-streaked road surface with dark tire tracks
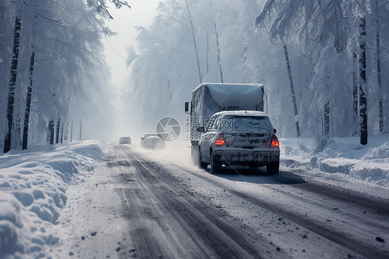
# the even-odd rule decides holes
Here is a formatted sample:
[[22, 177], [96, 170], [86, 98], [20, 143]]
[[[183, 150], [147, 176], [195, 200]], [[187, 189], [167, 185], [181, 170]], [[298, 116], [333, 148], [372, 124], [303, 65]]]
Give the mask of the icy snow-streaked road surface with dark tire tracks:
[[[389, 195], [281, 168], [182, 166], [131, 145], [70, 186], [53, 258], [388, 258]], [[379, 193], [382, 191], [382, 193]]]

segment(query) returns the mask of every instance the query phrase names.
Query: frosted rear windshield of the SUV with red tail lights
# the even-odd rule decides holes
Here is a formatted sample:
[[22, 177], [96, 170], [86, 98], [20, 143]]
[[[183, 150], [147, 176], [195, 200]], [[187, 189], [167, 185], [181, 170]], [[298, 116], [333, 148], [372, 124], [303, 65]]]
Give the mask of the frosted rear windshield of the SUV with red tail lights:
[[255, 132], [271, 134], [273, 125], [268, 117], [231, 116], [220, 120], [220, 130], [224, 132]]

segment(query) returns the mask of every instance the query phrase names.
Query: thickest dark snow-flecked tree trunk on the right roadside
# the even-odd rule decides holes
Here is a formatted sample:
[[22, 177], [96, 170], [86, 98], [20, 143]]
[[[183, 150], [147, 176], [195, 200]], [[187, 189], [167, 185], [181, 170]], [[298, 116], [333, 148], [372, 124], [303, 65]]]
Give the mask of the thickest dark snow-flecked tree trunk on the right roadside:
[[368, 103], [366, 98], [366, 20], [359, 19], [359, 136], [362, 145], [368, 143]]

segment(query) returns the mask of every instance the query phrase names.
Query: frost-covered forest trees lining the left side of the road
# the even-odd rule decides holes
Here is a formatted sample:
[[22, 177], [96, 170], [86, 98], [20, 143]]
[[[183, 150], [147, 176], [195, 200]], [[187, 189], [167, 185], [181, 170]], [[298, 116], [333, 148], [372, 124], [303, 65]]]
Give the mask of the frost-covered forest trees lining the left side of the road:
[[[12, 10], [12, 7], [8, 8]], [[28, 132], [35, 133], [35, 139], [39, 139], [39, 135], [43, 136], [43, 132], [47, 131], [49, 120], [60, 121], [61, 129], [64, 123], [81, 114], [91, 119], [90, 125], [96, 121], [96, 116], [91, 116], [95, 112], [100, 111], [101, 117], [97, 116], [100, 118], [97, 121], [113, 118], [112, 94], [107, 89], [110, 75], [101, 42], [103, 36], [113, 34], [104, 26], [103, 19], [107, 14], [102, 12], [98, 15], [96, 8], [88, 7], [80, 0], [61, 4], [56, 1], [20, 0], [13, 9], [14, 14], [19, 14], [14, 19], [20, 19], [21, 28], [17, 30], [19, 55], [14, 58], [18, 67], [17, 70], [12, 69], [17, 71], [17, 76], [12, 72], [9, 80], [10, 90], [16, 86], [13, 104], [8, 101], [8, 111], [13, 111], [8, 112], [6, 117], [9, 136], [12, 133], [12, 147], [21, 148], [21, 130], [24, 130], [23, 148], [27, 146], [26, 140], [34, 137]], [[9, 19], [3, 15], [1, 18]], [[12, 67], [14, 63], [12, 61]], [[4, 66], [1, 67], [1, 75], [4, 74], [3, 69]], [[104, 97], [96, 98], [96, 94]], [[21, 129], [23, 115], [25, 123], [24, 129]], [[0, 121], [3, 125], [4, 120]], [[58, 135], [60, 130], [57, 130]], [[4, 152], [8, 152], [9, 139], [5, 143]]]

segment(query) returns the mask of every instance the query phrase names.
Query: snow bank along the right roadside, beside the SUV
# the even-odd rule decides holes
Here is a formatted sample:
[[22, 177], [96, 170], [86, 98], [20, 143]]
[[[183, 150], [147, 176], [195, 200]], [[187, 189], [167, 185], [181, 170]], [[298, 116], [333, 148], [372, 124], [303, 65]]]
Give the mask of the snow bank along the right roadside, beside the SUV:
[[329, 139], [321, 152], [311, 139], [281, 139], [281, 163], [307, 166], [321, 172], [350, 177], [389, 187], [389, 134], [370, 136], [368, 145], [358, 137]]

